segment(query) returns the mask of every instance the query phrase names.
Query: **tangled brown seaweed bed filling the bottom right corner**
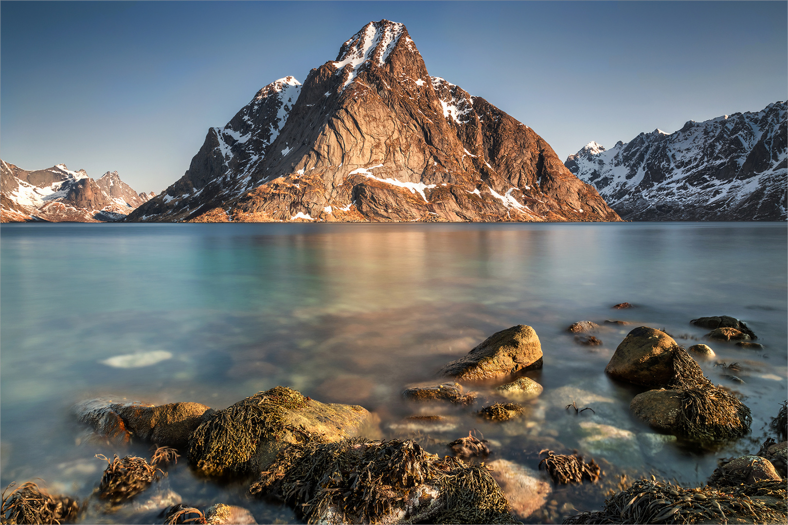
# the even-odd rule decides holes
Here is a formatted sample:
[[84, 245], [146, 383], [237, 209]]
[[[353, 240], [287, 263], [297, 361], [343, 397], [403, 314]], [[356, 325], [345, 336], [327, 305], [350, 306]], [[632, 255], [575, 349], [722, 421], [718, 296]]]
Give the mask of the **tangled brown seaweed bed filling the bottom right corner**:
[[686, 489], [639, 479], [608, 497], [604, 510], [569, 516], [563, 523], [785, 523], [786, 486], [758, 482], [726, 488]]

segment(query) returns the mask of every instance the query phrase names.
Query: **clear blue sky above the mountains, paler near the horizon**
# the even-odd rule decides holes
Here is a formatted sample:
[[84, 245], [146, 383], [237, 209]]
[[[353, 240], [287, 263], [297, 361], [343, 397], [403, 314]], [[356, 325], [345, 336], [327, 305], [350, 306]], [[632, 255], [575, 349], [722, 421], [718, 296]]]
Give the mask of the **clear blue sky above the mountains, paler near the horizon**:
[[370, 20], [564, 160], [788, 98], [788, 2], [0, 2], [0, 157], [158, 193]]

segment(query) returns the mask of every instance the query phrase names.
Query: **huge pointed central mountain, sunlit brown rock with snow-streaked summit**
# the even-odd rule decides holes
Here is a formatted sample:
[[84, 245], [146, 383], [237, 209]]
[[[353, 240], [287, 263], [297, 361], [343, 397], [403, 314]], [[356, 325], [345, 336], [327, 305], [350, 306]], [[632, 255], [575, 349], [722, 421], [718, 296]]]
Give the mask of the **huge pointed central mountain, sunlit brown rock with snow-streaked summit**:
[[403, 24], [263, 87], [210, 128], [151, 221], [620, 220], [533, 130], [429, 76]]

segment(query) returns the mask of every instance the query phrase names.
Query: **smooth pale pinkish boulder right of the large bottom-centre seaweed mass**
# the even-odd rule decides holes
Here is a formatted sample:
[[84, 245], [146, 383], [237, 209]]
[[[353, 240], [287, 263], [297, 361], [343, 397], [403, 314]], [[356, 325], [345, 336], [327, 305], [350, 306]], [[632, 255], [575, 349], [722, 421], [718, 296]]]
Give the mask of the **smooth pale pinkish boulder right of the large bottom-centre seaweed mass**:
[[552, 486], [537, 471], [508, 460], [494, 460], [487, 464], [490, 474], [504, 490], [511, 512], [527, 518], [547, 502]]

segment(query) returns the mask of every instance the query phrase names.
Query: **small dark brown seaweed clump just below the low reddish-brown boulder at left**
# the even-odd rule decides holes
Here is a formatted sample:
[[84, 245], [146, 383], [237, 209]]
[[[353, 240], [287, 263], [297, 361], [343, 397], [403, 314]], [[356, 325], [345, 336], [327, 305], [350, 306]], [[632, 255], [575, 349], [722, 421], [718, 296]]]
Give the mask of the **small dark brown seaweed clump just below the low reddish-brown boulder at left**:
[[108, 500], [113, 505], [135, 497], [151, 486], [152, 482], [157, 481], [161, 475], [166, 475], [161, 469], [148, 464], [143, 457], [126, 456], [121, 459], [116, 455], [113, 460], [103, 454], [96, 454], [95, 457], [109, 464], [104, 469], [95, 493], [102, 500]]

